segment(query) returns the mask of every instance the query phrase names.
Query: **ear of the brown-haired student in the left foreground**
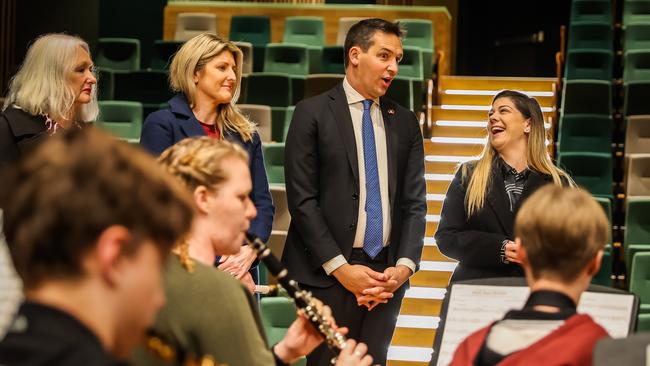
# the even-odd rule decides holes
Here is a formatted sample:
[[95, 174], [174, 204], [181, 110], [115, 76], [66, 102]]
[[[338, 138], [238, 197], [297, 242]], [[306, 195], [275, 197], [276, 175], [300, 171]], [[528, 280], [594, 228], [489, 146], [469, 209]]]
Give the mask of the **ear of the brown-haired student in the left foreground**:
[[[120, 261], [124, 247], [131, 241], [131, 232], [124, 226], [113, 225], [102, 231], [97, 239], [95, 261], [98, 268], [86, 268], [87, 272], [99, 272], [111, 285], [119, 279]], [[87, 267], [88, 265], [86, 265]]]

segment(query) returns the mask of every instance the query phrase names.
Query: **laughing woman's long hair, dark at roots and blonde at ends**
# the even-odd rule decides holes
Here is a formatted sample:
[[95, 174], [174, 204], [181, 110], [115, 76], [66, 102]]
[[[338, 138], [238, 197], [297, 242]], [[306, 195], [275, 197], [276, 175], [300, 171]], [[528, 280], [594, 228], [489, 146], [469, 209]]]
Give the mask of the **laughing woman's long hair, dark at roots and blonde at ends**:
[[[530, 119], [530, 133], [528, 134], [528, 144], [526, 149], [526, 158], [528, 166], [539, 173], [553, 177], [553, 184], [562, 186], [565, 179], [570, 186], [575, 186], [571, 177], [553, 164], [551, 156], [546, 149], [546, 129], [544, 128], [544, 115], [542, 109], [535, 98], [515, 90], [502, 90], [492, 99], [492, 103], [499, 98], [509, 98], [515, 105], [515, 108], [527, 119]], [[488, 133], [488, 141], [483, 148], [481, 157], [478, 160], [463, 164], [461, 166], [461, 176], [465, 180], [471, 173], [467, 193], [465, 194], [465, 209], [467, 217], [479, 212], [485, 204], [485, 197], [490, 186], [492, 176], [492, 163], [498, 155], [492, 147], [491, 136]], [[473, 168], [473, 169], [471, 169]]]

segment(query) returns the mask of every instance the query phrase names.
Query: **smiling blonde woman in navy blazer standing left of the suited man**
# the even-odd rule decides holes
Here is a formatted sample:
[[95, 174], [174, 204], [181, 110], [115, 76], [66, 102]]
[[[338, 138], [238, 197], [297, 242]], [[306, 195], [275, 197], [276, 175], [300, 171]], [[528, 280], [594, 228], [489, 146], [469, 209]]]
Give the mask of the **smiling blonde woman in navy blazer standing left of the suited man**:
[[[264, 168], [262, 142], [255, 124], [236, 107], [239, 97], [242, 52], [231, 42], [204, 33], [187, 41], [174, 55], [170, 83], [178, 94], [169, 100], [169, 109], [150, 114], [144, 122], [140, 143], [159, 155], [176, 142], [190, 136], [208, 135], [240, 144], [248, 153], [253, 190], [250, 198], [257, 209], [250, 232], [267, 241], [273, 223], [273, 202]], [[215, 223], [218, 227], [219, 223]], [[220, 268], [243, 279], [254, 254], [243, 247], [240, 254], [221, 259]]]

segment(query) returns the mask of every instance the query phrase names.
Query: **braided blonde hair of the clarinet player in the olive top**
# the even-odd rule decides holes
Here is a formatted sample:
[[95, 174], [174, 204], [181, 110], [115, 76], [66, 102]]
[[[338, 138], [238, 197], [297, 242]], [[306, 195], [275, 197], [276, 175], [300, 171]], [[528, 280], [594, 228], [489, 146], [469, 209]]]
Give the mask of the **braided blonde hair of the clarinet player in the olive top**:
[[[157, 161], [190, 191], [199, 186], [216, 191], [228, 179], [229, 169], [224, 164], [227, 159], [238, 159], [248, 165], [248, 154], [238, 144], [200, 136], [186, 138], [170, 146], [160, 154]], [[177, 248], [181, 263], [191, 272], [193, 262], [189, 257], [187, 241], [179, 242]]]

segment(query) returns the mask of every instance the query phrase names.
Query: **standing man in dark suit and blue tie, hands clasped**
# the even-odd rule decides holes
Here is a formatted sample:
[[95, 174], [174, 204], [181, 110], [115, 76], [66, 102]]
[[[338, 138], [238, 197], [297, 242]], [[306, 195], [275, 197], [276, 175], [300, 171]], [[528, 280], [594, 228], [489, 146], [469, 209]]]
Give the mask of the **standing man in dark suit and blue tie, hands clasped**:
[[[384, 97], [401, 36], [399, 24], [381, 19], [352, 26], [345, 80], [296, 105], [285, 150], [292, 221], [282, 260], [380, 364], [425, 229], [419, 124]], [[330, 358], [321, 348], [308, 364]]]

